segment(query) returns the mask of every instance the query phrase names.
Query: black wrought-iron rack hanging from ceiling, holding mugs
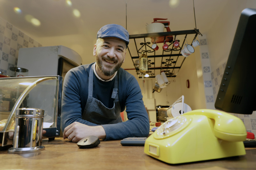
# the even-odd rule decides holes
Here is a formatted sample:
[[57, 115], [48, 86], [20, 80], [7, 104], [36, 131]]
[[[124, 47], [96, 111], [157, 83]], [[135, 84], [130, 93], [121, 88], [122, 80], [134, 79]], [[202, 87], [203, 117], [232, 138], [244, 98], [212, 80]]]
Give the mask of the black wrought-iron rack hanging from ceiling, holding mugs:
[[[145, 33], [145, 34], [135, 34], [135, 35], [130, 35], [129, 39], [133, 39], [134, 44], [136, 46], [136, 50], [137, 50], [137, 56], [132, 56], [131, 51], [129, 49], [128, 46], [128, 51], [130, 53], [130, 56], [132, 58], [132, 62], [133, 65], [135, 67], [135, 70], [137, 72], [137, 75], [139, 76], [139, 78], [142, 78], [143, 74], [140, 74], [140, 70], [138, 67], [136, 67], [135, 65], [135, 60], [139, 59], [141, 53], [146, 53], [146, 55], [148, 56], [148, 72], [149, 72], [149, 78], [155, 78], [155, 76], [157, 74], [159, 74], [160, 71], [164, 71], [167, 77], [176, 77], [176, 75], [178, 74], [174, 72], [174, 69], [178, 69], [180, 70], [182, 64], [184, 63], [186, 57], [184, 57], [181, 54], [181, 50], [183, 49], [183, 46], [186, 44], [187, 40], [187, 35], [188, 34], [195, 34], [194, 39], [196, 39], [198, 34], [201, 34], [199, 32], [198, 29], [194, 29], [194, 30], [184, 30], [184, 31], [171, 31], [171, 32], [162, 32], [162, 33]], [[151, 42], [146, 42], [146, 38], [150, 38], [150, 37], [161, 37], [164, 36], [164, 39], [166, 36], [173, 36], [173, 40], [168, 42], [168, 49], [162, 51], [162, 55], [156, 55], [156, 51], [151, 48], [151, 46], [149, 46], [149, 44], [152, 44]], [[184, 39], [178, 40], [180, 43], [180, 47], [178, 48], [173, 48], [173, 42], [176, 39], [177, 35], [183, 35]], [[144, 39], [144, 42], [140, 42], [139, 44], [137, 44], [138, 42], [136, 42], [137, 39]], [[192, 40], [192, 41], [193, 41]], [[188, 42], [187, 42], [188, 43]], [[160, 43], [159, 43], [160, 44]], [[192, 42], [191, 42], [192, 44]], [[140, 48], [139, 48], [140, 47]], [[160, 48], [159, 48], [160, 50]], [[175, 54], [173, 53], [174, 51], [177, 51]], [[166, 54], [167, 53], [167, 54]], [[169, 54], [168, 54], [169, 53]], [[153, 54], [153, 55], [151, 55]], [[173, 56], [177, 56], [176, 60], [173, 59]], [[156, 58], [158, 57], [162, 57], [161, 59], [161, 66], [160, 67], [156, 67]], [[167, 59], [166, 59], [167, 57]], [[181, 58], [182, 62], [180, 65], [177, 65], [177, 61], [178, 59]], [[165, 60], [164, 60], [165, 58]], [[156, 72], [156, 70], [160, 70], [158, 72]]]

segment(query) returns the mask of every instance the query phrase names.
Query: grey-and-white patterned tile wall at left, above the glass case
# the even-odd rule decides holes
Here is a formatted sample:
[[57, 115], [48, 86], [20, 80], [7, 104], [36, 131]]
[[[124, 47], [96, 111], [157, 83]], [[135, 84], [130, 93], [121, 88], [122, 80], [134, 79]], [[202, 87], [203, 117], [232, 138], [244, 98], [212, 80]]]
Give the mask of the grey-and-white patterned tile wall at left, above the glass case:
[[0, 71], [7, 75], [10, 67], [17, 67], [20, 48], [41, 47], [11, 23], [0, 17]]

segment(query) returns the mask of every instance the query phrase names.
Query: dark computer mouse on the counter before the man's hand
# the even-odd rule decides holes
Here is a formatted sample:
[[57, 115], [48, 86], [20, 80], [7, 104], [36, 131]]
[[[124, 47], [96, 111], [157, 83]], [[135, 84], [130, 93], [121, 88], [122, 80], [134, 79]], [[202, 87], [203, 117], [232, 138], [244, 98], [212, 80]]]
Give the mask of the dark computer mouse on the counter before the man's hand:
[[96, 136], [84, 137], [77, 142], [79, 148], [93, 148], [100, 144], [100, 139]]

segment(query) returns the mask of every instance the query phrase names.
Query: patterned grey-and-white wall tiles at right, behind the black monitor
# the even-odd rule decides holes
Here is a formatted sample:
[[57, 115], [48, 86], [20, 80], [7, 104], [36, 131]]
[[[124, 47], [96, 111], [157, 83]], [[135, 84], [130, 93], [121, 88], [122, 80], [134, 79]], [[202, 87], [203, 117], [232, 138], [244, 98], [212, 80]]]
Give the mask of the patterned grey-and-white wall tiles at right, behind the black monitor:
[[[210, 60], [211, 54], [208, 52], [207, 47], [207, 38], [205, 35], [200, 37], [200, 53], [203, 69], [203, 78], [204, 78], [204, 91], [205, 91], [205, 101], [206, 107], [209, 109], [214, 108], [214, 102], [216, 100], [221, 79], [226, 67], [226, 62], [221, 63], [217, 66], [217, 69], [211, 70]], [[232, 113], [230, 113], [232, 114]], [[256, 112], [253, 111], [252, 115], [243, 115], [243, 114], [232, 114], [236, 117], [239, 117], [245, 124], [246, 130], [248, 132], [254, 133], [256, 136]]]

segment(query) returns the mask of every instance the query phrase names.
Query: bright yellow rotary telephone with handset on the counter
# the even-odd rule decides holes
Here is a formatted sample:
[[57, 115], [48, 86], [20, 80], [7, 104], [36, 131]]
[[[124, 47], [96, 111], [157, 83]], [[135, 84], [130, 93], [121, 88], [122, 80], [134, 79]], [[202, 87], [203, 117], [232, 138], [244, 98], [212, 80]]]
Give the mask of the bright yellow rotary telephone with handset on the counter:
[[238, 117], [198, 109], [164, 122], [144, 145], [149, 156], [170, 164], [245, 155], [247, 132]]

